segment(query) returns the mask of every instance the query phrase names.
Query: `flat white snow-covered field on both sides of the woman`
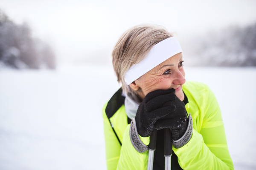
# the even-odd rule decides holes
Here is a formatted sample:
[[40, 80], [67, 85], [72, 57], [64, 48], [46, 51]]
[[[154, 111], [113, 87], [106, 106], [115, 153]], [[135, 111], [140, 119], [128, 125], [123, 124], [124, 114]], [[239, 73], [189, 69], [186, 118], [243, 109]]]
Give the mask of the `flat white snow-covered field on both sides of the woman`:
[[[185, 72], [218, 99], [235, 169], [256, 169], [256, 69]], [[102, 106], [119, 86], [100, 65], [1, 70], [0, 170], [105, 170]]]

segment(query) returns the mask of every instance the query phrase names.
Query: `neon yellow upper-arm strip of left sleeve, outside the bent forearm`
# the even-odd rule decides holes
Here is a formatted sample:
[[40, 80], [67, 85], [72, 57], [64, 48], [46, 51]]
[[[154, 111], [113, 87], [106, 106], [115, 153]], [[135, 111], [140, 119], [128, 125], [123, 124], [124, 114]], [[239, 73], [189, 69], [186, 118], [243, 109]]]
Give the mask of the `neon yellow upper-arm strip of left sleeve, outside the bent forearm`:
[[116, 170], [117, 163], [120, 156], [121, 145], [113, 132], [111, 124], [105, 113], [105, 108], [107, 104], [103, 107], [103, 124], [104, 124], [104, 136], [105, 136], [105, 149], [106, 149], [106, 163], [108, 170]]

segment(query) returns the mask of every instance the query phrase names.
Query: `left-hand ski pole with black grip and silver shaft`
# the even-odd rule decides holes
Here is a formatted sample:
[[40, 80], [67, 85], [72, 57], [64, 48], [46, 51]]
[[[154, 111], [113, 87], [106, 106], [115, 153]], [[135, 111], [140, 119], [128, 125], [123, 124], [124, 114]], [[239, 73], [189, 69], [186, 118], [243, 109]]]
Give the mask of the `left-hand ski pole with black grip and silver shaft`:
[[154, 129], [149, 137], [148, 144], [148, 167], [147, 170], [153, 170], [154, 151], [156, 150], [157, 143], [157, 129]]

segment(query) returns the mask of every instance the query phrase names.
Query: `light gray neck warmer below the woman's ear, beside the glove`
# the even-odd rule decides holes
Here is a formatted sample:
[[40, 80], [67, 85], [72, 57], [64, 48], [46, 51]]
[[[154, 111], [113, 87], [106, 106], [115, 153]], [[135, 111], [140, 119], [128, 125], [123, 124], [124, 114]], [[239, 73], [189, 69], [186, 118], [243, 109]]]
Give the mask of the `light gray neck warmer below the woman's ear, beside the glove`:
[[[128, 87], [128, 91], [130, 91], [129, 87]], [[137, 95], [133, 94], [132, 92], [128, 92], [125, 95], [125, 112], [128, 118], [130, 119], [135, 118], [135, 115], [137, 113], [137, 109], [140, 103], [141, 102], [137, 97]]]

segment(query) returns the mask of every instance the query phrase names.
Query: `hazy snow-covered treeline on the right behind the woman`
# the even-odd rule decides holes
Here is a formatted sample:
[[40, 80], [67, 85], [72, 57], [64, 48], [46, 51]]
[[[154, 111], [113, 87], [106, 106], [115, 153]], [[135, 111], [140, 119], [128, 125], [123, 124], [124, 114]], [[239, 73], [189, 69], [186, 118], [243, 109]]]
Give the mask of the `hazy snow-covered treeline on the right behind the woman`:
[[256, 66], [256, 23], [208, 33], [191, 49], [193, 66]]

